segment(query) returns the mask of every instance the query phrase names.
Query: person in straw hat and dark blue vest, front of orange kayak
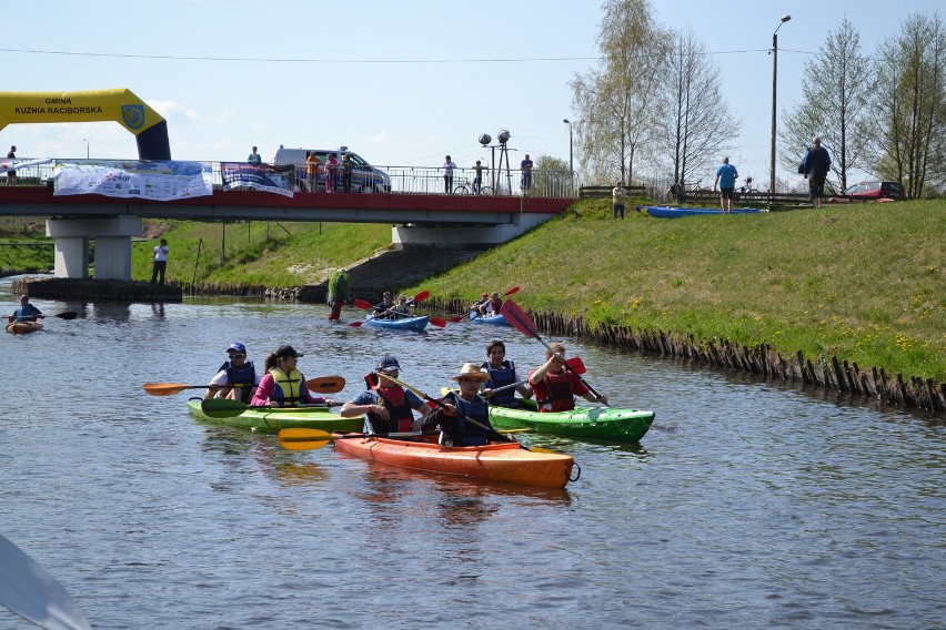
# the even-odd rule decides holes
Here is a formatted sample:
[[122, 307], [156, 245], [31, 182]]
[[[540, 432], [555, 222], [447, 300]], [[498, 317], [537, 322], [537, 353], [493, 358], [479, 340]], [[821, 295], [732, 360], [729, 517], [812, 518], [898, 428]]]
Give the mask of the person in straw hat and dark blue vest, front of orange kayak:
[[[452, 377], [460, 385], [442, 398], [443, 407], [431, 416], [431, 424], [440, 424], [440, 444], [443, 446], [483, 446], [490, 444], [493, 426], [490, 406], [480, 396], [480, 386], [490, 379], [475, 363], [464, 363], [460, 374]], [[471, 423], [467, 418], [474, 420]], [[483, 425], [483, 426], [477, 426]]]

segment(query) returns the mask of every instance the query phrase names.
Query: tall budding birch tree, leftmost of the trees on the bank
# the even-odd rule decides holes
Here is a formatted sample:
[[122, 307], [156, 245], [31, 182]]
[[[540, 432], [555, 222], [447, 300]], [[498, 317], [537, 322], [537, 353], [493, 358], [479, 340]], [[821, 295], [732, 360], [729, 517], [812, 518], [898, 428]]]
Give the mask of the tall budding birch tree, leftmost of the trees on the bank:
[[660, 82], [670, 41], [648, 0], [607, 0], [597, 45], [602, 68], [576, 74], [572, 103], [582, 118], [577, 143], [585, 169], [630, 183], [637, 152], [654, 136]]

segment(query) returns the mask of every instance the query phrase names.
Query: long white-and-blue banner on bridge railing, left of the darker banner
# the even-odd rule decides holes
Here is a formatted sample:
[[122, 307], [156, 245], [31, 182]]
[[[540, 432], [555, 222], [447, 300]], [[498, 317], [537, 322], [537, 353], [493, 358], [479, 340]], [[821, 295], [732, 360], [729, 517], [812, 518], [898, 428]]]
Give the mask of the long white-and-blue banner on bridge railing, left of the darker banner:
[[210, 162], [57, 161], [54, 173], [53, 195], [93, 193], [173, 201], [213, 194]]

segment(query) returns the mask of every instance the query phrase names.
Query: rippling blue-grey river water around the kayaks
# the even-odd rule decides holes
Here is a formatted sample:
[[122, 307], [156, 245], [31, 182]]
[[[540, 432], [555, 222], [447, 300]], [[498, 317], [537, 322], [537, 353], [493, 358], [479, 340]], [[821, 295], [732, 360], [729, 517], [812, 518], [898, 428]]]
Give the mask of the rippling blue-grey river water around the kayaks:
[[[141, 384], [205, 383], [241, 339], [260, 366], [292, 343], [308, 378], [348, 379], [342, 399], [388, 353], [436, 393], [493, 336], [521, 370], [539, 363], [512, 328], [37, 305], [81, 317], [0, 339], [0, 534], [95, 628], [944, 627], [942, 420], [562, 339], [654, 427], [641, 445], [522, 435], [576, 458], [564, 490], [479, 482], [282, 450]], [[24, 626], [0, 608], [0, 629]]]

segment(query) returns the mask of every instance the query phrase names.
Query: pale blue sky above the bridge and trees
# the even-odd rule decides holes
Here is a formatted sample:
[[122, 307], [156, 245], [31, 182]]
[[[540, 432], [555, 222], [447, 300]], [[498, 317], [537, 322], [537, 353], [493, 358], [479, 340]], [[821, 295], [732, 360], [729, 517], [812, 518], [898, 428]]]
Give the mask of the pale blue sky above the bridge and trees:
[[[942, 0], [657, 0], [660, 20], [692, 26], [714, 53], [742, 133], [732, 161], [767, 177], [772, 32], [778, 31], [778, 109], [801, 98], [805, 59], [846, 16], [864, 51]], [[940, 16], [946, 17], [940, 9]], [[600, 3], [264, 2], [111, 0], [11, 3], [4, 91], [128, 88], [162, 113], [177, 160], [245, 160], [256, 144], [348, 145], [380, 165], [489, 161], [476, 139], [509, 129], [513, 163], [568, 159], [575, 121], [568, 80], [597, 57]], [[32, 51], [32, 52], [20, 52]], [[10, 125], [0, 146], [20, 158], [134, 158], [115, 123]], [[581, 156], [575, 155], [576, 164]], [[783, 173], [779, 173], [782, 175]], [[710, 173], [706, 175], [712, 177]]]

